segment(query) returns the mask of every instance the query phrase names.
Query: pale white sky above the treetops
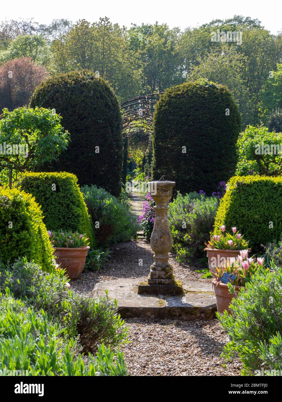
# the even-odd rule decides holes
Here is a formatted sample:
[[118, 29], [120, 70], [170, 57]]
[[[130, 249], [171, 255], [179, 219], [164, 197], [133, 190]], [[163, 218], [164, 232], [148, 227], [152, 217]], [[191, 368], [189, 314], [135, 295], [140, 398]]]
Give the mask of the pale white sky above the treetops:
[[126, 27], [158, 21], [182, 30], [236, 14], [258, 18], [272, 34], [282, 30], [281, 0], [12, 0], [1, 2], [0, 10], [0, 21], [34, 17], [47, 25], [56, 18], [73, 22], [84, 18], [93, 23], [107, 16], [112, 23]]

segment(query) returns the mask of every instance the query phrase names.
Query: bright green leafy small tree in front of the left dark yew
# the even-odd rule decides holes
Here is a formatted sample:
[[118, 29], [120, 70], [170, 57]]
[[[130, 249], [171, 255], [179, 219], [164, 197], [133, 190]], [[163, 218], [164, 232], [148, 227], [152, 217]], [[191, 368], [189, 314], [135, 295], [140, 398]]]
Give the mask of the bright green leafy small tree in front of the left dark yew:
[[44, 108], [21, 107], [12, 112], [4, 109], [4, 118], [0, 120], [0, 168], [33, 171], [56, 160], [67, 148], [69, 139], [61, 119]]

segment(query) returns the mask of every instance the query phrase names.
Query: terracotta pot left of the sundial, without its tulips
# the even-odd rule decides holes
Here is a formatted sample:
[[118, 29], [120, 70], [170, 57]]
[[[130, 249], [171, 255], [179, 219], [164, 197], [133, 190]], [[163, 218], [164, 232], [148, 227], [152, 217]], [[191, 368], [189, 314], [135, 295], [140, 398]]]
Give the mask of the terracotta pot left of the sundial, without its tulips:
[[66, 269], [70, 279], [77, 279], [83, 271], [89, 246], [79, 248], [54, 247], [56, 263]]

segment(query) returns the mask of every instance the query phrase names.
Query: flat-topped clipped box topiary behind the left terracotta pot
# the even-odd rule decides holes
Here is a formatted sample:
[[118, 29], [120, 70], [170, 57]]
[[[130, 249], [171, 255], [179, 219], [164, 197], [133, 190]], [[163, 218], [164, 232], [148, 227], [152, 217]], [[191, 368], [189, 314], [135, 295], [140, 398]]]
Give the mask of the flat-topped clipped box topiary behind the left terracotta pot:
[[95, 247], [91, 218], [74, 174], [25, 173], [19, 186], [41, 205], [48, 230], [78, 231], [86, 234]]

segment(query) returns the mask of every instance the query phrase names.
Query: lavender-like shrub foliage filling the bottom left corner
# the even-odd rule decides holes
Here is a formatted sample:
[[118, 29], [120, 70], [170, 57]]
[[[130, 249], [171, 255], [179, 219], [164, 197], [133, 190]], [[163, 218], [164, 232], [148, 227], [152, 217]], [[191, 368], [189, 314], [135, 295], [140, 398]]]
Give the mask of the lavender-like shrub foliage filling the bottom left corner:
[[[110, 348], [127, 341], [127, 328], [107, 298], [76, 295], [66, 290], [63, 271], [44, 273], [26, 259], [0, 266], [0, 273], [2, 370], [126, 375], [122, 354], [114, 359]], [[85, 362], [83, 352], [97, 353]]]

